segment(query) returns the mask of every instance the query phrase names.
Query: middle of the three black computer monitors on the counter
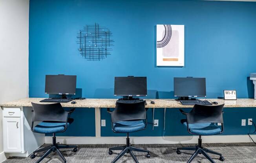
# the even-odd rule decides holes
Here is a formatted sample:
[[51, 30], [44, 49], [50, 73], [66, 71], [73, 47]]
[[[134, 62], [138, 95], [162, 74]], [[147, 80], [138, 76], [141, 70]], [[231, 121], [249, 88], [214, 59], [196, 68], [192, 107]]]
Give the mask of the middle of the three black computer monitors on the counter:
[[147, 96], [147, 78], [115, 77], [114, 96]]

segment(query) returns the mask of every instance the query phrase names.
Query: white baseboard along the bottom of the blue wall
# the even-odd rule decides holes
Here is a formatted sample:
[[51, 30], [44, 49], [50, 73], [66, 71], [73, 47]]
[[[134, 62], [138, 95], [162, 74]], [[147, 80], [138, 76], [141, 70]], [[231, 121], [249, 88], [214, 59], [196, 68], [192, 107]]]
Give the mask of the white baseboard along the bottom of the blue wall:
[[[256, 135], [252, 135], [256, 139]], [[248, 135], [218, 135], [202, 136], [203, 143], [250, 143]], [[132, 144], [185, 144], [197, 143], [198, 136], [149, 136], [149, 137], [130, 137]], [[52, 143], [50, 136], [45, 137], [46, 143]], [[57, 142], [62, 144], [124, 144], [126, 137], [72, 137], [57, 136]]]

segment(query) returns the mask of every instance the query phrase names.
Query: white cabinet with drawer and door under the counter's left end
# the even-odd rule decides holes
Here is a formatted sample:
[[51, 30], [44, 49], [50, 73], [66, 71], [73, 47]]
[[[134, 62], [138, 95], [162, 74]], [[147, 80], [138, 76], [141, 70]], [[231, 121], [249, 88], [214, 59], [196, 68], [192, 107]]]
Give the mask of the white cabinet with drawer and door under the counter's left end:
[[4, 152], [27, 157], [45, 143], [44, 134], [31, 131], [32, 107], [2, 107]]

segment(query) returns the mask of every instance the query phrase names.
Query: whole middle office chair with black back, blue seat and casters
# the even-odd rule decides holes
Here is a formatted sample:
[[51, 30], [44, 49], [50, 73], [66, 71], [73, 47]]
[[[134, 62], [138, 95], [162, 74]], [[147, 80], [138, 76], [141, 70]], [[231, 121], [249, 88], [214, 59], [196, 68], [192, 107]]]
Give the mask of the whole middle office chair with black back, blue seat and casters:
[[146, 152], [146, 157], [150, 158], [150, 152], [148, 150], [133, 147], [130, 144], [129, 138], [130, 132], [143, 130], [147, 127], [145, 104], [146, 101], [141, 101], [138, 103], [119, 103], [117, 101], [115, 110], [113, 112], [110, 112], [108, 109], [108, 112], [111, 114], [113, 132], [127, 134], [126, 145], [109, 149], [108, 154], [110, 155], [113, 154], [112, 150], [122, 150], [122, 152], [112, 161], [112, 163], [115, 163], [125, 153], [130, 153], [133, 160], [136, 163], [139, 163], [132, 151]]

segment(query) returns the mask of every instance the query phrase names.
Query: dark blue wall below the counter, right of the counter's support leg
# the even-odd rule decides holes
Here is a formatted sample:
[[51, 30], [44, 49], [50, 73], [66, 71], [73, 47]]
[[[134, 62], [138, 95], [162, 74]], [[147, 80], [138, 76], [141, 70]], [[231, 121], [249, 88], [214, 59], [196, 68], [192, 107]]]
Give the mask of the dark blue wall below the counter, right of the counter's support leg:
[[[184, 108], [185, 112], [189, 112], [190, 108]], [[256, 108], [224, 108], [224, 132], [222, 135], [246, 135], [253, 132], [253, 125], [241, 126], [241, 119], [256, 118]], [[153, 109], [148, 109], [148, 122], [153, 123], [152, 120]], [[186, 136], [190, 135], [187, 132], [187, 127], [181, 124], [182, 119], [186, 116], [181, 114], [178, 108], [166, 109], [166, 120], [164, 130], [164, 109], [155, 109], [154, 119], [159, 120], [159, 126], [154, 127], [148, 124], [145, 130], [131, 133], [131, 136]], [[101, 127], [101, 136], [125, 136], [125, 134], [114, 133], [112, 131], [111, 116], [106, 109], [101, 109], [101, 119], [106, 119], [106, 127]], [[246, 123], [248, 123], [246, 121]]]

